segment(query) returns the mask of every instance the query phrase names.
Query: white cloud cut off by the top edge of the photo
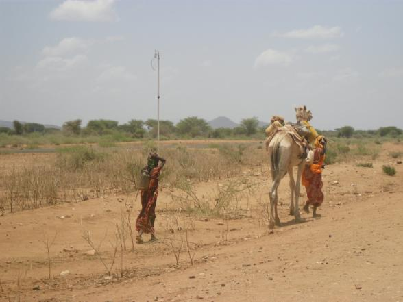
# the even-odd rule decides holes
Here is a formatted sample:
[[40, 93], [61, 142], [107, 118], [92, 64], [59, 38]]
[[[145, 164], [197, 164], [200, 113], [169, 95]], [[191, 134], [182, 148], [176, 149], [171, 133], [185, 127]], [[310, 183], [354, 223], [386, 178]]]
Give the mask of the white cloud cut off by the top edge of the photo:
[[113, 9], [114, 1], [66, 0], [50, 13], [50, 17], [58, 21], [114, 21], [117, 20]]

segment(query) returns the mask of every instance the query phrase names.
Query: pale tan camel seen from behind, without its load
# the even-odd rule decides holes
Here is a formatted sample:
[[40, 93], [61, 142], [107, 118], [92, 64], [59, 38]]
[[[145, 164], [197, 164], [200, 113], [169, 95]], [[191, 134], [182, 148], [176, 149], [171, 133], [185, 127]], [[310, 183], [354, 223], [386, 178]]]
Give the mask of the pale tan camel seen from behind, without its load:
[[[297, 121], [309, 121], [312, 114], [306, 110], [306, 106], [295, 108]], [[286, 126], [287, 127], [287, 126]], [[286, 127], [284, 127], [286, 130]], [[302, 171], [305, 166], [305, 159], [301, 158], [300, 146], [295, 142], [289, 131], [278, 131], [274, 134], [268, 146], [271, 179], [273, 184], [269, 192], [270, 196], [270, 219], [269, 228], [273, 229], [274, 225], [280, 225], [280, 218], [278, 218], [277, 203], [278, 203], [278, 186], [280, 181], [289, 174], [291, 202], [289, 214], [295, 216], [295, 221], [300, 222], [300, 208], [298, 201], [300, 199], [300, 184]], [[294, 180], [293, 167], [297, 166], [297, 181]], [[274, 221], [274, 222], [273, 222]]]

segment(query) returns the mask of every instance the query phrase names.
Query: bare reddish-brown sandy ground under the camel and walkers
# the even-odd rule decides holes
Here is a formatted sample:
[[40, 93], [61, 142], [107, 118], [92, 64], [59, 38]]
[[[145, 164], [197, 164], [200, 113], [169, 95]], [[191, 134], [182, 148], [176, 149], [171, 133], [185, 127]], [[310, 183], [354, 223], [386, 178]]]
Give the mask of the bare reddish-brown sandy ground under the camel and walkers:
[[[131, 252], [128, 240], [123, 257], [117, 254], [112, 279], [105, 279], [106, 269], [96, 255], [86, 254], [91, 248], [82, 234], [90, 231], [93, 242], [101, 244], [99, 251], [109, 265], [116, 224], [121, 212], [126, 213], [124, 203], [130, 203], [133, 195], [106, 196], [2, 216], [0, 299], [403, 301], [403, 167], [387, 155], [391, 149], [403, 150], [403, 146], [390, 144], [383, 149], [374, 168], [359, 168], [354, 163], [326, 168], [326, 201], [319, 210], [322, 217], [315, 220], [303, 213], [306, 221], [296, 224], [287, 215], [289, 192], [284, 179], [280, 186], [282, 225], [273, 234], [267, 232], [260, 205], [268, 200], [268, 165], [259, 173], [250, 173], [248, 179], [259, 185], [252, 197], [241, 201], [241, 218], [223, 221], [199, 217], [195, 229], [188, 232], [189, 241], [198, 244], [193, 266], [185, 251], [176, 265], [171, 249], [163, 243], [168, 237], [184, 238], [184, 231], [175, 229], [171, 234], [165, 225], [172, 215], [166, 209], [176, 193], [171, 188], [162, 188], [158, 199], [160, 241], [136, 244]], [[25, 156], [35, 155], [6, 156], [25, 160]], [[382, 164], [393, 164], [398, 172], [394, 177], [383, 175]], [[197, 184], [197, 194], [208, 194], [219, 184]], [[132, 222], [139, 208], [137, 200]], [[49, 250], [51, 279], [47, 279], [44, 241], [51, 241], [55, 234]], [[62, 277], [64, 270], [69, 270], [69, 275]]]

